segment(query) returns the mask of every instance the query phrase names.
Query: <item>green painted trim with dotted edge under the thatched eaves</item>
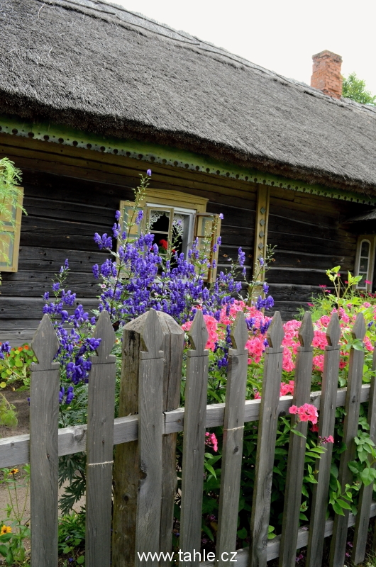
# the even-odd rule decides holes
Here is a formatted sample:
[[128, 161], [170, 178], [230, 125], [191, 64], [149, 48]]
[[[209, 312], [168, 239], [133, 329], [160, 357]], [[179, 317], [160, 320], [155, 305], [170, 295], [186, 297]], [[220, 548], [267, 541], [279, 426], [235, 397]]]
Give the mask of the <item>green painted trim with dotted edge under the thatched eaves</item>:
[[140, 142], [138, 140], [120, 140], [114, 137], [101, 137], [74, 130], [64, 125], [23, 122], [18, 116], [0, 115], [0, 132], [21, 137], [33, 137], [35, 140], [55, 142], [61, 145], [81, 147], [84, 150], [123, 155], [145, 162], [156, 162], [192, 171], [221, 175], [231, 179], [241, 179], [253, 183], [281, 187], [302, 193], [311, 193], [328, 198], [352, 201], [366, 205], [376, 205], [376, 196], [362, 196], [359, 193], [330, 189], [319, 184], [306, 184], [272, 174], [265, 174], [256, 169], [236, 166], [205, 155], [195, 154], [175, 147]]

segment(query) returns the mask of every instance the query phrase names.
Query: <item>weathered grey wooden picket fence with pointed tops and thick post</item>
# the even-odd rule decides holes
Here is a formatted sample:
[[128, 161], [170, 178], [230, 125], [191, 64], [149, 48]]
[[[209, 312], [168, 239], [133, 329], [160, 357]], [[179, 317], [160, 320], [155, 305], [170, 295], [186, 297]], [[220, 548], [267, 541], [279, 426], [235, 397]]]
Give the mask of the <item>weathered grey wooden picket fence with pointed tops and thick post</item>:
[[[365, 335], [363, 315], [353, 325], [353, 337]], [[248, 330], [238, 313], [231, 331], [226, 403], [206, 405], [208, 332], [200, 310], [189, 331], [185, 407], [179, 408], [184, 333], [164, 313], [150, 310], [128, 323], [123, 333], [120, 415], [114, 420], [115, 335], [108, 313], [95, 329], [101, 344], [92, 356], [87, 425], [58, 429], [59, 366], [53, 362], [58, 342], [48, 315], [43, 317], [32, 347], [38, 364], [31, 367], [31, 431], [0, 440], [0, 466], [31, 463], [31, 566], [57, 566], [58, 457], [87, 453], [87, 567], [170, 565], [167, 559], [140, 559], [145, 552], [171, 551], [177, 474], [182, 478], [179, 567], [197, 567], [201, 546], [201, 504], [207, 428], [223, 426], [223, 456], [216, 556], [206, 567], [226, 566], [236, 550], [244, 423], [258, 421], [250, 547], [236, 554], [238, 567], [265, 567], [280, 558], [280, 567], [295, 565], [296, 551], [307, 546], [306, 566], [321, 566], [324, 538], [332, 535], [330, 565], [343, 567], [348, 527], [355, 525], [352, 560], [365, 557], [370, 517], [376, 515], [372, 484], [360, 490], [358, 514], [348, 510], [326, 520], [331, 444], [316, 461], [316, 479], [309, 526], [299, 527], [305, 439], [291, 434], [287, 461], [282, 534], [268, 540], [272, 472], [279, 415], [289, 407], [312, 403], [319, 409], [319, 436], [334, 434], [336, 407], [344, 406], [343, 442], [338, 480], [351, 482], [348, 462], [354, 459], [360, 403], [369, 401], [370, 436], [376, 442], [375, 380], [362, 385], [364, 353], [352, 349], [347, 388], [338, 389], [340, 325], [332, 315], [327, 330], [322, 391], [311, 393], [314, 330], [306, 313], [299, 332], [294, 396], [280, 398], [284, 336], [279, 313], [267, 332], [262, 398], [245, 401]], [[373, 359], [376, 369], [376, 356]], [[292, 416], [292, 421], [296, 417]], [[307, 423], [297, 423], [306, 434]], [[182, 471], [176, 468], [177, 433], [184, 432]], [[114, 462], [114, 446], [115, 462]], [[112, 554], [112, 556], [111, 556]], [[190, 561], [187, 561], [191, 554]], [[209, 558], [210, 559], [210, 558]]]

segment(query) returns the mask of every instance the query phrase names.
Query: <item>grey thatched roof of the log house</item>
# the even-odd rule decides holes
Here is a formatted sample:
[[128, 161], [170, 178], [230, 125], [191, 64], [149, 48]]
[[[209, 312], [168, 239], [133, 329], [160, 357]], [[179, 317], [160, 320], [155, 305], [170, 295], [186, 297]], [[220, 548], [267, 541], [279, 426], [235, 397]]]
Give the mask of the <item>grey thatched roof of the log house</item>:
[[97, 0], [1, 0], [0, 45], [0, 113], [376, 191], [375, 108], [139, 14]]

